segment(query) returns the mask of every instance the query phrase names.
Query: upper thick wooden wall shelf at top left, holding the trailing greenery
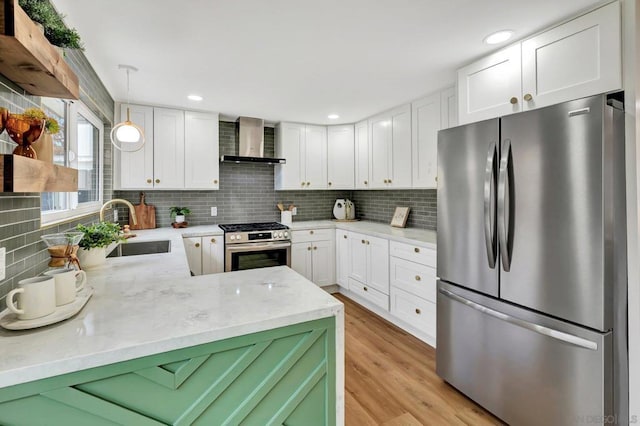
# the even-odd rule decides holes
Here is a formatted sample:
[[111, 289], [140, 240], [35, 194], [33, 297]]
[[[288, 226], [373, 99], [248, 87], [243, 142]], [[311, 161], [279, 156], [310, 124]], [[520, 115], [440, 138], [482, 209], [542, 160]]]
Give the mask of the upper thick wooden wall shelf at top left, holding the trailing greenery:
[[78, 99], [78, 76], [18, 0], [0, 0], [0, 73], [36, 96]]

